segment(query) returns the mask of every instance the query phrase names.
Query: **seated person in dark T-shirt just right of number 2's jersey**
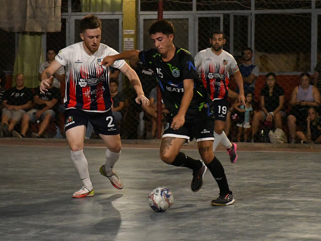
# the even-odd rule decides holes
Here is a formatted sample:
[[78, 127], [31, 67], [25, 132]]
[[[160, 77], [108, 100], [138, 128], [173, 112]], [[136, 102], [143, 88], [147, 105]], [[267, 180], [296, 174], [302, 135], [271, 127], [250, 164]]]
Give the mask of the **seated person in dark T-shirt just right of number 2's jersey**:
[[113, 104], [111, 106], [111, 111], [117, 122], [123, 120], [121, 111], [125, 107], [126, 97], [123, 93], [118, 92], [118, 85], [116, 80], [109, 80], [109, 91]]

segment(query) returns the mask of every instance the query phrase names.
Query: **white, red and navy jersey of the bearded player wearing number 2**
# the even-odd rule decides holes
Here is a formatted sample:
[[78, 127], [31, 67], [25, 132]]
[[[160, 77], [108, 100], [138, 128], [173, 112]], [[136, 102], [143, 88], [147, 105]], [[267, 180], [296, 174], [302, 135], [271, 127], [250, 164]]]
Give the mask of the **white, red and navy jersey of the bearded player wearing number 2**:
[[[56, 55], [58, 63], [66, 67], [65, 109], [82, 109], [90, 112], [105, 112], [111, 107], [109, 92], [109, 67], [101, 65], [108, 55], [115, 55], [115, 49], [100, 43], [98, 50], [88, 55], [83, 42], [72, 44]], [[112, 67], [121, 68], [124, 60], [117, 60]]]

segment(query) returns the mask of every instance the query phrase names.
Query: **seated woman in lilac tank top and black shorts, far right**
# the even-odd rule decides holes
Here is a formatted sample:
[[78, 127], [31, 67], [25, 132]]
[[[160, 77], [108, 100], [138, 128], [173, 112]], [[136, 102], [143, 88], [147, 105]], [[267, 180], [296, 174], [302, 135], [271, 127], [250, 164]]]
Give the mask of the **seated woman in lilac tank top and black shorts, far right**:
[[296, 86], [291, 94], [291, 113], [288, 116], [288, 129], [290, 143], [295, 143], [297, 123], [305, 126], [309, 107], [318, 108], [320, 105], [320, 92], [316, 86], [310, 85], [310, 75], [302, 73], [301, 85]]

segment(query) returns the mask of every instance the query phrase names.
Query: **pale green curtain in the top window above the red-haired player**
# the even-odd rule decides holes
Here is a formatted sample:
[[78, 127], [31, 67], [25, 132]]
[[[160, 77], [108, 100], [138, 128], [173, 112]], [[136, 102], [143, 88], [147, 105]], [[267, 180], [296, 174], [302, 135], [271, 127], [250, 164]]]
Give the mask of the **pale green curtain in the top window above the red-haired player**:
[[82, 0], [82, 12], [122, 12], [122, 0]]

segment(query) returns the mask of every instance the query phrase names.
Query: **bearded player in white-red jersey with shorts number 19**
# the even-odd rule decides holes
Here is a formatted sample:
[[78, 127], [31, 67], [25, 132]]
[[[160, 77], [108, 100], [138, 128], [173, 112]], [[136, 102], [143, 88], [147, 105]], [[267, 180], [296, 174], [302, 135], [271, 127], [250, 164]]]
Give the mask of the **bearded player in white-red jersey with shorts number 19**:
[[204, 49], [195, 56], [195, 67], [198, 68], [204, 87], [207, 89], [214, 104], [214, 143], [213, 151], [222, 141], [230, 155], [230, 161], [236, 162], [237, 145], [231, 143], [224, 133], [224, 124], [228, 110], [229, 71], [234, 72], [236, 83], [239, 87], [239, 101], [245, 105], [243, 79], [234, 57], [223, 50], [226, 42], [222, 31], [213, 31], [209, 42], [212, 48]]

